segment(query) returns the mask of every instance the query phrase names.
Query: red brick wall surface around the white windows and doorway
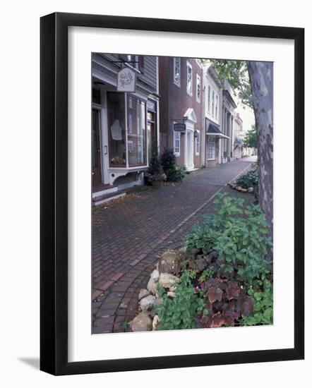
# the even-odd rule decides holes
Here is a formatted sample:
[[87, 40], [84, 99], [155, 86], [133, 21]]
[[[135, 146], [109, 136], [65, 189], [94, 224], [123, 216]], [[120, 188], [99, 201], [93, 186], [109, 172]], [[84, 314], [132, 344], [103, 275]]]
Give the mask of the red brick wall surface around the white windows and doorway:
[[[192, 68], [192, 95], [187, 92], [187, 63]], [[203, 69], [196, 59], [181, 58], [180, 85], [174, 83], [174, 58], [159, 57], [160, 85], [160, 151], [164, 147], [174, 147], [174, 122], [182, 122], [186, 111], [193, 110], [196, 123], [191, 124], [194, 131], [199, 131], [199, 153], [196, 153], [196, 138], [193, 139], [193, 166], [202, 166], [202, 148], [205, 140], [203, 128]], [[197, 75], [200, 77], [200, 102], [196, 98]], [[181, 167], [186, 167], [186, 133], [180, 135], [180, 153], [176, 161]]]

